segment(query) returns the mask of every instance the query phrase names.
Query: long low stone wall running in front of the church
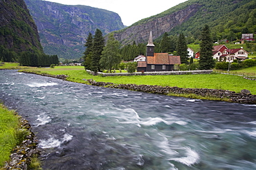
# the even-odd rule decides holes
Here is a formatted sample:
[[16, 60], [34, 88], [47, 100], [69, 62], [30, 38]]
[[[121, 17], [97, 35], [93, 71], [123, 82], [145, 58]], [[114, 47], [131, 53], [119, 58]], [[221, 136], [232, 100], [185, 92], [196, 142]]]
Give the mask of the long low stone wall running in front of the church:
[[90, 70], [86, 70], [89, 74], [94, 76], [102, 75], [102, 76], [147, 76], [147, 75], [181, 75], [181, 74], [211, 74], [212, 70], [191, 70], [191, 71], [170, 71], [170, 72], [134, 72], [134, 73], [103, 73], [103, 72], [91, 72]]

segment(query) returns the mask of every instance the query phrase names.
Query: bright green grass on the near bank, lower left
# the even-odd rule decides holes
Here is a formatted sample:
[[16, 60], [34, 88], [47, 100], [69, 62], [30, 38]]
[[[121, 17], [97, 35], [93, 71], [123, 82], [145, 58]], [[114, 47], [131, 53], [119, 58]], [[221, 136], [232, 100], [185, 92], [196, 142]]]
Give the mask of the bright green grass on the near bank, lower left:
[[0, 168], [10, 159], [12, 149], [17, 145], [19, 118], [15, 111], [8, 110], [0, 104]]

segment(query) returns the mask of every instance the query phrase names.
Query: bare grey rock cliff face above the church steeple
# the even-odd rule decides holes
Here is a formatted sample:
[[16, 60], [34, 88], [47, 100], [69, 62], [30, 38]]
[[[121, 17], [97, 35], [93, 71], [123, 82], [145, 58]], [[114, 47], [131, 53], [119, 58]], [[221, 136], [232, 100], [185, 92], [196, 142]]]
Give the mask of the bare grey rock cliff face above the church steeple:
[[163, 17], [152, 17], [145, 23], [134, 24], [120, 32], [115, 32], [115, 38], [122, 44], [128, 44], [133, 41], [136, 43], [145, 43], [149, 38], [149, 32], [153, 32], [153, 39], [158, 38], [165, 32], [170, 32], [177, 25], [188, 21], [190, 17], [199, 10], [201, 6], [198, 3], [192, 4], [185, 9], [179, 10]]

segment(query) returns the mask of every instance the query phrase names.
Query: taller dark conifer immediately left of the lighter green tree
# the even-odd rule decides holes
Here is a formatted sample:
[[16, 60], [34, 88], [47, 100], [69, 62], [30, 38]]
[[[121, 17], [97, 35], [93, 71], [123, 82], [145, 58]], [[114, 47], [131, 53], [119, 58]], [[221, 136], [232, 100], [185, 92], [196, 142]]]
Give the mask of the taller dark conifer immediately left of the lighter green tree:
[[97, 29], [93, 38], [93, 55], [91, 56], [91, 71], [100, 72], [100, 58], [104, 47], [101, 30]]

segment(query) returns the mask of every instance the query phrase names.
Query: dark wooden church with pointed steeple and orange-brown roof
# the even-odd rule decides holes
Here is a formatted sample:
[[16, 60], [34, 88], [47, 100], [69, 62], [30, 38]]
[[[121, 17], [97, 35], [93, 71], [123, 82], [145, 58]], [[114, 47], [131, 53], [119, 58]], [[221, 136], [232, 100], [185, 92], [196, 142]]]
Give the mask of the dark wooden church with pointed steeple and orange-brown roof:
[[138, 61], [137, 72], [166, 72], [173, 71], [175, 64], [181, 64], [180, 56], [172, 56], [168, 53], [154, 53], [152, 32], [147, 43], [146, 61]]

